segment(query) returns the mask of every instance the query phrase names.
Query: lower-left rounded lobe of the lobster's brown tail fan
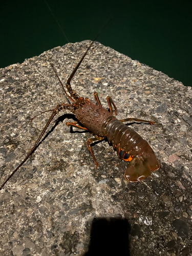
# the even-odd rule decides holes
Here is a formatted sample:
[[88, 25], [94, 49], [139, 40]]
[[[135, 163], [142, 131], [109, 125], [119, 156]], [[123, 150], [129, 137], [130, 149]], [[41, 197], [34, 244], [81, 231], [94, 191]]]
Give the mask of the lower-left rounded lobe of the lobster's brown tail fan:
[[135, 156], [127, 165], [124, 178], [127, 181], [135, 182], [145, 179], [151, 174], [151, 168], [140, 156]]

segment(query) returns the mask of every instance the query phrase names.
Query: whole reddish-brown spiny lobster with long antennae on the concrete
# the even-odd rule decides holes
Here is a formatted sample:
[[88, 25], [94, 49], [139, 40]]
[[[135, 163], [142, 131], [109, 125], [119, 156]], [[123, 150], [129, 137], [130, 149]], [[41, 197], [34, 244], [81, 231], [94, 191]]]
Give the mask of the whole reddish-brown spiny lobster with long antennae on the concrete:
[[[112, 142], [113, 147], [115, 148], [117, 155], [121, 160], [129, 162], [125, 169], [124, 178], [127, 181], [141, 181], [147, 176], [151, 174], [151, 171], [155, 171], [159, 169], [159, 163], [156, 159], [156, 156], [151, 148], [151, 146], [146, 142], [146, 140], [142, 139], [142, 137], [132, 130], [127, 125], [122, 122], [126, 121], [141, 121], [150, 124], [154, 124], [153, 121], [141, 120], [137, 118], [126, 118], [122, 120], [118, 120], [113, 116], [113, 108], [115, 111], [115, 115], [117, 115], [117, 108], [112, 98], [108, 96], [106, 99], [109, 104], [110, 112], [102, 108], [101, 102], [99, 100], [97, 92], [94, 93], [94, 96], [98, 102], [98, 105], [91, 102], [88, 98], [79, 97], [78, 94], [71, 88], [71, 79], [75, 75], [77, 69], [79, 68], [82, 60], [87, 55], [89, 49], [92, 47], [94, 41], [88, 46], [86, 52], [84, 52], [77, 66], [69, 76], [66, 82], [66, 88], [63, 87], [63, 84], [57, 75], [57, 72], [53, 65], [51, 64], [61, 86], [67, 97], [72, 101], [72, 103], [66, 104], [58, 104], [56, 108], [53, 110], [52, 115], [50, 116], [48, 122], [46, 123], [44, 129], [36, 140], [30, 152], [27, 154], [25, 159], [17, 166], [17, 168], [13, 171], [13, 173], [4, 181], [0, 189], [4, 187], [4, 185], [8, 182], [8, 180], [14, 175], [14, 173], [18, 170], [20, 166], [22, 166], [29, 156], [35, 151], [38, 143], [40, 142], [42, 136], [44, 136], [49, 124], [51, 123], [54, 116], [60, 112], [61, 110], [71, 111], [78, 122], [68, 122], [66, 123], [68, 126], [75, 126], [79, 129], [87, 130], [95, 135], [95, 138], [88, 139], [87, 146], [93, 157], [96, 168], [98, 167], [98, 163], [94, 156], [91, 143], [93, 141], [103, 140], [105, 137], [109, 142]], [[79, 125], [81, 124], [81, 125]]]

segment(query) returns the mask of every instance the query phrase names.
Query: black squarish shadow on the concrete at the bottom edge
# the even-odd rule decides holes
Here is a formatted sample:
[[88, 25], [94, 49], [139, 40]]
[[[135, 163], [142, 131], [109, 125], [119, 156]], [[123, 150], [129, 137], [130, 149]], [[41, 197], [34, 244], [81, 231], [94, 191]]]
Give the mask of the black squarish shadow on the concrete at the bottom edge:
[[83, 256], [129, 256], [130, 230], [131, 226], [126, 219], [94, 218], [89, 250]]

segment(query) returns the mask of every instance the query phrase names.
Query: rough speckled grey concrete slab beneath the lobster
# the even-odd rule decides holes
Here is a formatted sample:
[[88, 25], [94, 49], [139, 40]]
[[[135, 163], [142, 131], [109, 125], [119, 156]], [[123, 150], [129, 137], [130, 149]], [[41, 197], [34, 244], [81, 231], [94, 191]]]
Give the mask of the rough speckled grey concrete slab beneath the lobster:
[[[89, 41], [68, 44], [0, 69], [1, 184], [24, 159], [50, 113], [67, 102], [49, 59], [66, 81]], [[95, 79], [100, 78], [100, 79]], [[73, 88], [132, 123], [153, 147], [161, 168], [144, 182], [127, 183], [126, 163], [107, 141], [87, 149], [90, 133], [70, 130], [60, 112], [35, 153], [0, 193], [0, 255], [84, 255], [96, 217], [125, 218], [130, 255], [192, 255], [192, 89], [96, 42], [72, 80]], [[106, 219], [110, 222], [109, 219]], [[124, 220], [124, 219], [122, 219]]]

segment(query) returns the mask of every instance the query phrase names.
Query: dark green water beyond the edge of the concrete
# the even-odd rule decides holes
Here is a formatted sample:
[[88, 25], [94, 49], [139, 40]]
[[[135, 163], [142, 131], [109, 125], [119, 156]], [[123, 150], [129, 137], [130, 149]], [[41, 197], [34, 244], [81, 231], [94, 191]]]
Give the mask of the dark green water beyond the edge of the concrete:
[[113, 17], [97, 41], [192, 86], [192, 1], [46, 1], [1, 1], [0, 67], [67, 44], [59, 26], [70, 42], [94, 39]]

